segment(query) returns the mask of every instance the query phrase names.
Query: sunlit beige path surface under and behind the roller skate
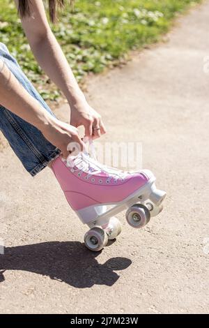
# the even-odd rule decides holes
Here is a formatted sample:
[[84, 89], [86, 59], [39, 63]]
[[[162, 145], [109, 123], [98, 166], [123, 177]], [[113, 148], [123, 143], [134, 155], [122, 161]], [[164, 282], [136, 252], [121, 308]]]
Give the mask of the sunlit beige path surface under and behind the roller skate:
[[121, 237], [88, 252], [80, 243], [86, 227], [52, 172], [32, 179], [10, 149], [1, 154], [0, 312], [209, 312], [208, 22], [207, 1], [180, 20], [169, 43], [88, 84], [109, 129], [104, 141], [142, 142], [144, 167], [167, 190], [162, 215], [144, 230], [121, 214]]

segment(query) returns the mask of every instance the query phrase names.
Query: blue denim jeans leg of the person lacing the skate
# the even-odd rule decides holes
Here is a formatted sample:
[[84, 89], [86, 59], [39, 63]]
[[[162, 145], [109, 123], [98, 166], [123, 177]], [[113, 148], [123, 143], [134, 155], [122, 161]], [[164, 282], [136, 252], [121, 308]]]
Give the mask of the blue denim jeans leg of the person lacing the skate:
[[[0, 59], [8, 66], [9, 70], [15, 75], [24, 89], [26, 89], [33, 98], [38, 100], [47, 112], [54, 115], [3, 43], [0, 43]], [[0, 130], [8, 140], [10, 147], [15, 151], [17, 157], [20, 158], [26, 170], [32, 176], [35, 176], [45, 168], [52, 159], [60, 154], [60, 150], [47, 141], [38, 128], [27, 123], [20, 117], [17, 117], [17, 115], [1, 105]]]

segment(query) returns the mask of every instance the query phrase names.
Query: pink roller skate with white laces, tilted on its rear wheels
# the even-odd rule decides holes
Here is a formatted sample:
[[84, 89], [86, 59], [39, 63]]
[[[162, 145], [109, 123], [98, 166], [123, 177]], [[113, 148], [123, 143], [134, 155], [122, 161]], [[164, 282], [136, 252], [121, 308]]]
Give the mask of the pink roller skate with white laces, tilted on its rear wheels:
[[122, 172], [101, 165], [86, 153], [72, 158], [70, 165], [56, 158], [52, 170], [68, 203], [90, 228], [84, 242], [91, 251], [100, 251], [108, 239], [120, 234], [121, 223], [114, 216], [124, 209], [133, 228], [143, 228], [150, 216], [162, 211], [166, 193], [155, 187], [149, 170]]

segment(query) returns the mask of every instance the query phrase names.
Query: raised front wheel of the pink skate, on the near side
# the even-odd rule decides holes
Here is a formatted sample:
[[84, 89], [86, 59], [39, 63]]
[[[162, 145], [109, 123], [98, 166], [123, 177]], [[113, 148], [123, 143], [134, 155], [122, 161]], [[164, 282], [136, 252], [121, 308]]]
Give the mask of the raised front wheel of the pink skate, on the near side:
[[125, 214], [127, 223], [133, 228], [143, 228], [150, 221], [150, 211], [142, 204], [134, 204]]

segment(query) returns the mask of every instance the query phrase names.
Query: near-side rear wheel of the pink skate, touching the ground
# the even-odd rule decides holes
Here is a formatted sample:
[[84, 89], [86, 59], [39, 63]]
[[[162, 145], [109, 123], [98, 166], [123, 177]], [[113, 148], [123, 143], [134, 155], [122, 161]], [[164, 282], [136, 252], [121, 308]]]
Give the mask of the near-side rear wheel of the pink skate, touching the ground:
[[100, 227], [94, 227], [84, 235], [86, 247], [94, 252], [101, 251], [107, 245], [107, 241], [107, 233]]

